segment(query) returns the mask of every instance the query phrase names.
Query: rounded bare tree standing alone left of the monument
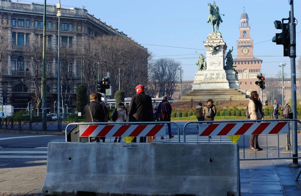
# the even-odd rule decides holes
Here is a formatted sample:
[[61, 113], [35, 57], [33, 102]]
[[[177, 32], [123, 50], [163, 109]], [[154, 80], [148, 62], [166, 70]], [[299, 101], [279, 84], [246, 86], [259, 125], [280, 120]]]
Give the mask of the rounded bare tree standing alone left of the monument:
[[151, 72], [149, 80], [154, 83], [159, 97], [164, 95], [168, 98], [172, 97], [180, 77], [178, 71], [180, 66], [180, 62], [172, 59], [161, 58], [155, 61], [154, 66], [149, 70]]

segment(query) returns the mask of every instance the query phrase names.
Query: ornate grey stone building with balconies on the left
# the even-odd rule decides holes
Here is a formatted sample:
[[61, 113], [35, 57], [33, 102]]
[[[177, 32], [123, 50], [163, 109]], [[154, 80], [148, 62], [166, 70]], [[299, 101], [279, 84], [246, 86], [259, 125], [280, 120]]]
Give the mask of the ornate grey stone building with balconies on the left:
[[[35, 53], [30, 47], [33, 42], [38, 47], [35, 52], [42, 54], [43, 45], [43, 4], [13, 3], [10, 0], [0, 0], [0, 31], [5, 31], [7, 50], [0, 63], [0, 97], [7, 96], [7, 104], [13, 105], [15, 111], [26, 109], [28, 100], [35, 91], [34, 72], [38, 71], [35, 79], [41, 80], [41, 66], [34, 70], [32, 61]], [[57, 44], [58, 28], [61, 29], [61, 47], [66, 51], [68, 65], [66, 76], [72, 78], [70, 87], [62, 87], [62, 92], [70, 88], [72, 106], [75, 109], [77, 86], [81, 84], [81, 64], [75, 57], [75, 46], [82, 40], [93, 39], [101, 35], [120, 36], [127, 40], [126, 34], [113, 29], [94, 15], [87, 13], [84, 8], [61, 8], [61, 24], [58, 26], [57, 9], [55, 5], [46, 8], [46, 85], [47, 113], [56, 109], [57, 101]], [[143, 46], [136, 44], [147, 52]], [[77, 47], [78, 48], [78, 47]], [[41, 59], [40, 59], [41, 60]], [[62, 62], [62, 61], [61, 61]], [[62, 73], [61, 73], [62, 74]], [[0, 98], [1, 105], [1, 98]], [[33, 105], [34, 107], [35, 105]], [[73, 113], [74, 110], [68, 111]]]

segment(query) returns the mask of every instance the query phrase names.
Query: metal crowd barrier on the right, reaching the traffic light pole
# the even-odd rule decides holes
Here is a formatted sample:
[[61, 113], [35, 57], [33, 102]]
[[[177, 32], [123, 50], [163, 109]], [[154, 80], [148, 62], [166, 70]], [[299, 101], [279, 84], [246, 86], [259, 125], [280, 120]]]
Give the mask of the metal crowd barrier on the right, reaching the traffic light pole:
[[[183, 142], [186, 142], [186, 134], [185, 133], [186, 133], [186, 127], [187, 127], [188, 124], [198, 124], [198, 125], [200, 125], [200, 124], [202, 124], [202, 125], [209, 124], [209, 125], [211, 125], [210, 128], [209, 128], [209, 130], [208, 129], [206, 130], [206, 133], [204, 133], [204, 134], [201, 133], [200, 134], [198, 132], [199, 136], [210, 135], [214, 131], [214, 129], [218, 127], [219, 124], [223, 124], [224, 125], [226, 123], [228, 123], [228, 126], [227, 125], [226, 126], [222, 126], [219, 129], [220, 130], [219, 135], [243, 135], [244, 136], [244, 133], [246, 133], [246, 131], [239, 133], [239, 131], [236, 130], [235, 132], [233, 132], [233, 131], [231, 132], [231, 129], [236, 124], [245, 123], [244, 124], [244, 125], [246, 125], [245, 126], [245, 130], [247, 130], [248, 128], [250, 128], [250, 125], [248, 126], [247, 124], [254, 124], [254, 122], [258, 122], [258, 123], [264, 125], [264, 126], [261, 126], [261, 128], [260, 128], [261, 130], [264, 130], [269, 124], [272, 124], [272, 122], [287, 122], [287, 123], [285, 123], [286, 126], [287, 126], [287, 129], [288, 129], [287, 132], [286, 133], [285, 132], [281, 132], [281, 133], [283, 133], [283, 134], [287, 134], [288, 133], [288, 135], [289, 135], [289, 132], [290, 132], [290, 130], [289, 130], [289, 121], [296, 121], [297, 123], [301, 124], [301, 122], [299, 120], [297, 120], [297, 119], [191, 121], [191, 122], [188, 122], [188, 123], [186, 123], [184, 125], [184, 128], [183, 128]], [[282, 123], [283, 127], [284, 127], [285, 124]], [[209, 125], [208, 125], [208, 127], [209, 127]], [[254, 124], [254, 126], [257, 127], [257, 126], [259, 126], [259, 124]], [[266, 135], [266, 136], [269, 135], [269, 134], [275, 135], [280, 130], [283, 130], [283, 127], [279, 127], [278, 125], [276, 125], [275, 127], [272, 127], [273, 129], [271, 129], [271, 131], [269, 133], [262, 134], [261, 132], [260, 133], [256, 133], [255, 131], [252, 131], [251, 134], [254, 134], [254, 135], [261, 135], [262, 134], [262, 135]], [[248, 134], [246, 134], [246, 135], [251, 135], [251, 134], [250, 134], [250, 131], [249, 131]], [[295, 140], [293, 138], [293, 155], [295, 154], [297, 156], [289, 156], [289, 157], [280, 157], [279, 134], [277, 134], [277, 138], [278, 138], [278, 141], [277, 141], [277, 143], [278, 143], [278, 157], [270, 157], [269, 158], [268, 157], [268, 148], [267, 148], [267, 157], [266, 158], [257, 158], [256, 151], [255, 151], [255, 158], [245, 158], [245, 138], [243, 137], [243, 139], [244, 139], [244, 141], [243, 141], [243, 143], [244, 143], [244, 145], [243, 145], [244, 158], [240, 159], [240, 161], [245, 161], [245, 160], [268, 160], [268, 159], [299, 159], [299, 158], [301, 158], [300, 156], [298, 156], [298, 152], [297, 152], [297, 143], [298, 143], [297, 138], [295, 138]]]

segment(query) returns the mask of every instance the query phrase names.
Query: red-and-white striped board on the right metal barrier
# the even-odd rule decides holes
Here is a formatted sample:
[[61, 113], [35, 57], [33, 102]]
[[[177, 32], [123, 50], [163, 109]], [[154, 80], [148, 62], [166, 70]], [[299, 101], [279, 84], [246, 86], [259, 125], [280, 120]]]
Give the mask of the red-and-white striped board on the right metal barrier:
[[288, 133], [288, 122], [199, 124], [199, 136]]

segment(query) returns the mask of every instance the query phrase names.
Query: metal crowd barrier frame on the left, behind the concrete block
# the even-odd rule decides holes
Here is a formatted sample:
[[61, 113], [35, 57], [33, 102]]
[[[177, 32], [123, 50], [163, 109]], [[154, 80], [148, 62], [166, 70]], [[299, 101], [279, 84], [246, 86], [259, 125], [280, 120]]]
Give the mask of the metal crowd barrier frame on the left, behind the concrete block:
[[[66, 126], [66, 129], [65, 129], [65, 131], [66, 131], [66, 134], [65, 134], [65, 136], [66, 136], [66, 141], [68, 141], [68, 128], [70, 127], [70, 126], [72, 126], [72, 125], [77, 125], [77, 129], [78, 129], [78, 131], [79, 131], [79, 125], [110, 125], [111, 127], [109, 127], [109, 128], [112, 128], [112, 125], [114, 126], [114, 125], [154, 125], [154, 124], [164, 124], [164, 126], [165, 126], [165, 124], [174, 124], [174, 125], [176, 125], [177, 126], [177, 132], [178, 132], [178, 143], [180, 143], [180, 127], [179, 127], [179, 125], [177, 125], [176, 123], [174, 123], [174, 122], [98, 122], [98, 123], [92, 123], [92, 122], [89, 122], [89, 123], [70, 123], [70, 124], [68, 124], [67, 126]], [[94, 130], [97, 128], [96, 126], [94, 126], [94, 127], [92, 127]], [[127, 127], [128, 129], [129, 129], [129, 127]], [[122, 128], [121, 128], [122, 129]], [[93, 131], [93, 130], [90, 130], [90, 132], [91, 131]], [[108, 133], [108, 129], [107, 130], [105, 130], [104, 132], [107, 132]], [[138, 136], [139, 135], [139, 133], [141, 132], [141, 130], [138, 130], [136, 133], [134, 133], [135, 132], [135, 130], [134, 130], [134, 132], [132, 132], [132, 135], [114, 135], [114, 137], [116, 136]], [[139, 132], [139, 133], [138, 133]], [[92, 132], [91, 132], [92, 133]], [[138, 133], [138, 135], [135, 135], [135, 134], [137, 134]], [[98, 136], [103, 136], [103, 137], [105, 137], [105, 135], [106, 134], [104, 134], [104, 135], [98, 135]], [[165, 132], [165, 135], [166, 135], [166, 132]], [[98, 136], [96, 136], [96, 137], [98, 137]], [[148, 135], [148, 136], [155, 136], [155, 135]], [[79, 141], [79, 137], [80, 137], [80, 135], [78, 134], [78, 141]], [[88, 137], [90, 137], [90, 136], [88, 136]], [[95, 137], [95, 136], [91, 136], [91, 137]], [[110, 136], [108, 136], [108, 137], [110, 137]], [[139, 137], [139, 136], [138, 136]], [[142, 136], [141, 136], [142, 137]], [[89, 142], [90, 142], [90, 140], [88, 140]]]

